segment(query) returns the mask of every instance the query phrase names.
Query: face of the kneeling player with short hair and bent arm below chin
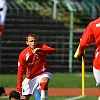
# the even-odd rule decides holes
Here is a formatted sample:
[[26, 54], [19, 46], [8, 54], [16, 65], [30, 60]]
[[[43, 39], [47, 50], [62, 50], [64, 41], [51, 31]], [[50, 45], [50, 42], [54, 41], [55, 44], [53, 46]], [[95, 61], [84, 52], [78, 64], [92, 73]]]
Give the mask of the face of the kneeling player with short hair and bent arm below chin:
[[33, 50], [37, 45], [37, 39], [36, 37], [28, 37], [28, 40], [26, 41], [26, 44]]

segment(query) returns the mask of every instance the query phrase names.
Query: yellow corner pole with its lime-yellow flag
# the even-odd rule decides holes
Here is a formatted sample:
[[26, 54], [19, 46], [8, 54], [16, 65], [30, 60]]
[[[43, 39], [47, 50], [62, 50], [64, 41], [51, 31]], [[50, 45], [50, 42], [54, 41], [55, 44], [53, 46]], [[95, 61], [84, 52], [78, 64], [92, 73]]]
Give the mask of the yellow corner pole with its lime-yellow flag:
[[[77, 50], [76, 50], [76, 52], [74, 54], [74, 58], [77, 57], [78, 51], [79, 51], [79, 46], [78, 46], [78, 48], [77, 48]], [[84, 69], [85, 69], [85, 60], [84, 60], [84, 58], [82, 56], [82, 95], [85, 95], [85, 82], [84, 82], [84, 73], [85, 72], [84, 72]]]

